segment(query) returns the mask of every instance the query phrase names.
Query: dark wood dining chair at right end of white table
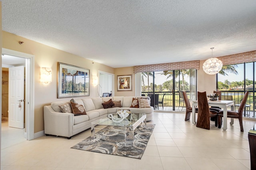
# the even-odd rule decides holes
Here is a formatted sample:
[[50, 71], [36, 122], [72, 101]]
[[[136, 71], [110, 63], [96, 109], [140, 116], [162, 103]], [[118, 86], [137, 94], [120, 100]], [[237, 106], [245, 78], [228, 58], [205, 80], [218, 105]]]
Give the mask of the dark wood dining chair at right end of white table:
[[[243, 112], [244, 112], [244, 107], [248, 98], [249, 92], [245, 92], [244, 97], [242, 99], [242, 102], [238, 108], [238, 112], [236, 111], [231, 111], [228, 110], [228, 117], [230, 118], [235, 118], [239, 120], [239, 124], [240, 124], [240, 131], [243, 132], [244, 131], [244, 126], [243, 126]], [[218, 113], [219, 117], [218, 117], [218, 128], [221, 127], [221, 119], [223, 117], [223, 111], [220, 111]]]

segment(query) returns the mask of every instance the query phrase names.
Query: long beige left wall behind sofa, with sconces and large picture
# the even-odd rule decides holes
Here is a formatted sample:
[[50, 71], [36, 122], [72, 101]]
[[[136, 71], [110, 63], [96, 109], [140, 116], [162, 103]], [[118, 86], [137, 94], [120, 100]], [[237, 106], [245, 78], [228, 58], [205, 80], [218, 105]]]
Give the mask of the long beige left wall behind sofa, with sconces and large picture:
[[[20, 45], [18, 42], [24, 41]], [[94, 63], [82, 57], [54, 49], [47, 45], [25, 39], [23, 37], [2, 31], [2, 47], [34, 55], [35, 61], [35, 109], [34, 109], [34, 132], [44, 130], [43, 106], [58, 100], [70, 100], [71, 98], [57, 98], [57, 63], [72, 64], [90, 69], [90, 96], [97, 97], [97, 87], [92, 85], [92, 75], [98, 76], [98, 70], [114, 74], [114, 68], [104, 64]], [[2, 49], [2, 48], [1, 48]], [[86, 56], [85, 56], [86, 57]], [[52, 68], [52, 82], [44, 85], [40, 83], [40, 67]], [[80, 97], [78, 97], [80, 98]]]

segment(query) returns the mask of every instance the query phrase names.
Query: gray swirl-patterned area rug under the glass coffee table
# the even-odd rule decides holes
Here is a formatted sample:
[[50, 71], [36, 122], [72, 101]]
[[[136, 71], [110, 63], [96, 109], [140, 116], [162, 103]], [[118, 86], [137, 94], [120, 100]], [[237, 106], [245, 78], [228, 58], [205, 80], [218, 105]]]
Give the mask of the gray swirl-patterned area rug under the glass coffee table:
[[133, 146], [124, 146], [124, 133], [118, 127], [107, 126], [95, 133], [95, 141], [88, 137], [71, 148], [141, 159], [154, 127], [152, 124], [139, 125], [134, 130]]

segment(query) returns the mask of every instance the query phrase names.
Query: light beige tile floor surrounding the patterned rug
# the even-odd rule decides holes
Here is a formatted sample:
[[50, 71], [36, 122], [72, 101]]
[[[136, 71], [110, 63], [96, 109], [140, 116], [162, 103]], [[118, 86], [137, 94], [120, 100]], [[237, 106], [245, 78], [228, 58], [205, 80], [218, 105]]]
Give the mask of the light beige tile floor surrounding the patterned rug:
[[26, 141], [21, 136], [23, 130], [9, 128], [2, 122], [1, 170], [250, 169], [248, 131], [256, 121], [244, 119], [242, 133], [237, 119], [223, 131], [214, 122], [210, 130], [198, 128], [191, 121], [184, 121], [184, 116], [154, 112], [153, 120], [147, 123], [156, 127], [141, 160], [70, 149], [90, 136], [90, 130], [70, 140], [43, 136]]

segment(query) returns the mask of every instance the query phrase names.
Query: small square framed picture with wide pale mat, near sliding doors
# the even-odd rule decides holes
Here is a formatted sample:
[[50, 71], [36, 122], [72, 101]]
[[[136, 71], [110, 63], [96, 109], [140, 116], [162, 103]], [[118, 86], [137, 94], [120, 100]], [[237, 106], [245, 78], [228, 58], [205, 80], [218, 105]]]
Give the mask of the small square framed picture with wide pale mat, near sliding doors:
[[132, 75], [117, 76], [117, 91], [132, 90]]

